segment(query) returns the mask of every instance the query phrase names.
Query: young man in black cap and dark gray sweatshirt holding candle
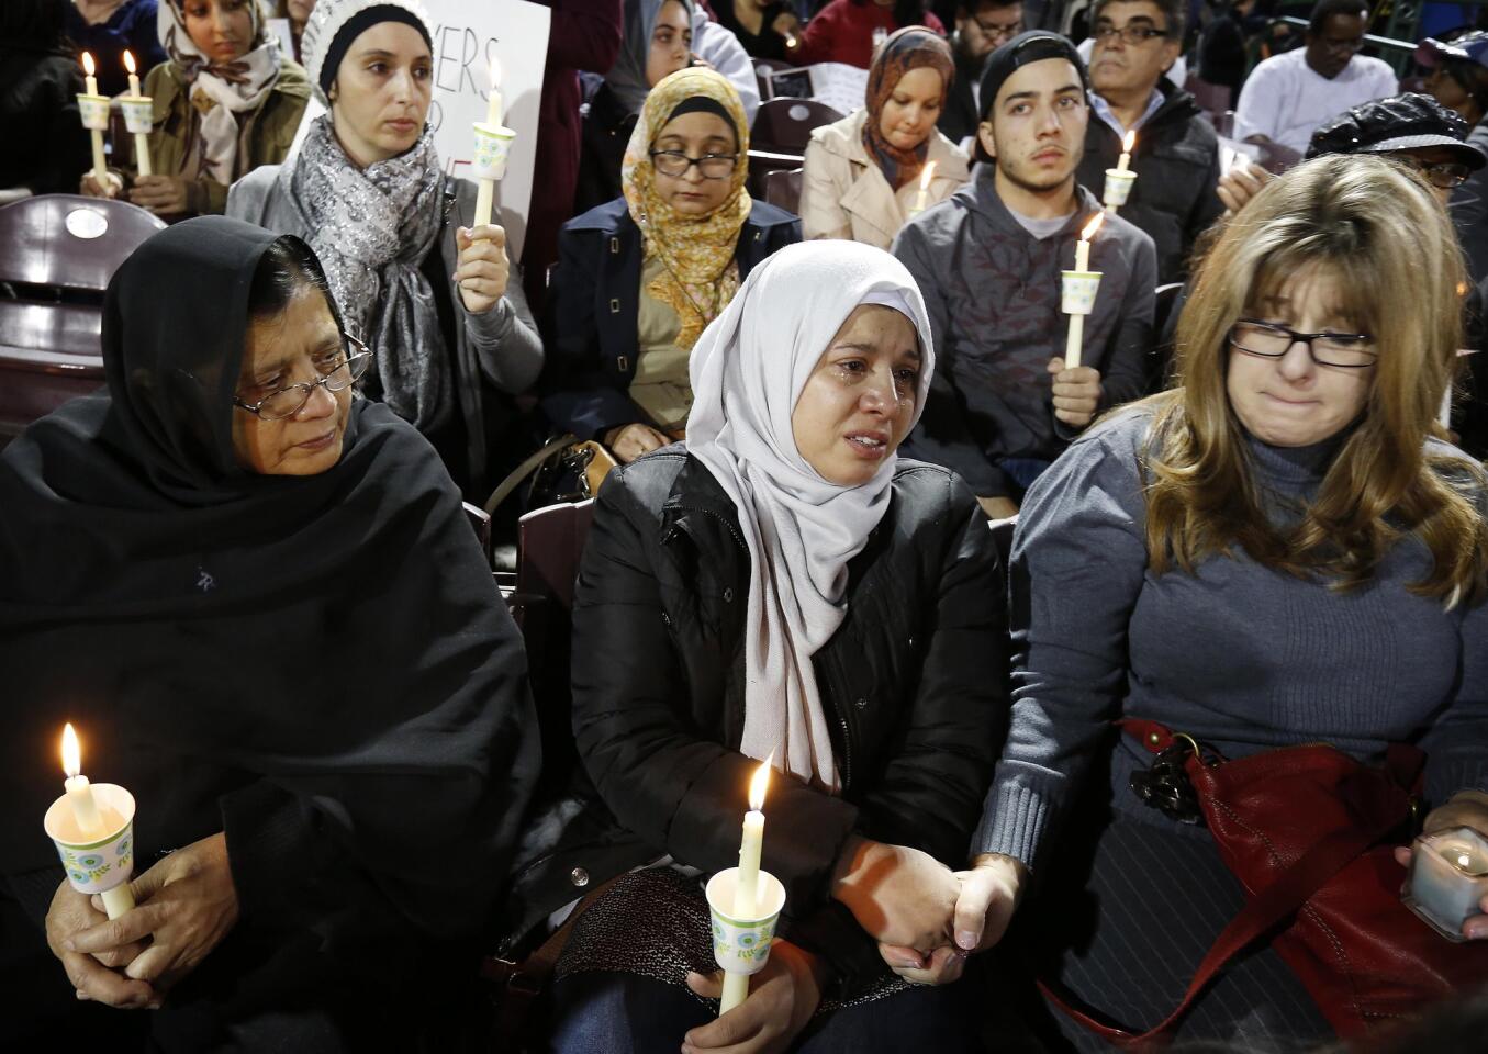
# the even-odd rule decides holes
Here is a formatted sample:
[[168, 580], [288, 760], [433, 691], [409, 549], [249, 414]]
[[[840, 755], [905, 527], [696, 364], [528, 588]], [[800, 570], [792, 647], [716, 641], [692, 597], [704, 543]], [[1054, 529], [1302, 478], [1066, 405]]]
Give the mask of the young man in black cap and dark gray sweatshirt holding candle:
[[1013, 37], [982, 77], [972, 182], [912, 219], [894, 255], [920, 283], [940, 369], [911, 439], [955, 469], [992, 517], [1097, 412], [1143, 393], [1158, 259], [1152, 238], [1107, 216], [1091, 243], [1103, 272], [1085, 320], [1083, 365], [1067, 369], [1059, 271], [1100, 211], [1074, 171], [1085, 149], [1085, 67], [1045, 31]]

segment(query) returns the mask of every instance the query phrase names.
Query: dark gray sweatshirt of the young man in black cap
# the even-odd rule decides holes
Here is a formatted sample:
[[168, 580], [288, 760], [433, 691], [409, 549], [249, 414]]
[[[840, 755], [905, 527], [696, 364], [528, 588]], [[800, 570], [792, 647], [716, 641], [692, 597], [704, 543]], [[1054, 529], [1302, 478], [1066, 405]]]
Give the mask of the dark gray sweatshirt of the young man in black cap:
[[[1039, 240], [997, 197], [991, 165], [899, 231], [893, 253], [930, 313], [936, 368], [920, 426], [903, 453], [954, 469], [981, 497], [1015, 493], [1013, 457], [1052, 461], [1074, 435], [1055, 421], [1048, 365], [1064, 354], [1059, 271], [1074, 266], [1080, 228], [1100, 210], [1085, 188], [1064, 229]], [[1101, 372], [1101, 409], [1144, 395], [1158, 256], [1152, 238], [1107, 216], [1091, 243], [1100, 271], [1085, 319], [1085, 365]]]

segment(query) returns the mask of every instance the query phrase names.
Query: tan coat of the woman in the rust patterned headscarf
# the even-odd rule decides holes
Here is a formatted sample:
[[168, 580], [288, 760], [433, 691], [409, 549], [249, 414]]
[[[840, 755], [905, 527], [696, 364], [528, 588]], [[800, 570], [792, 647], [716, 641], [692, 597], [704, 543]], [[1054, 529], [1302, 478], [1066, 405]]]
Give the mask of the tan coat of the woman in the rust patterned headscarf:
[[[841, 238], [888, 249], [920, 194], [911, 180], [896, 194], [863, 146], [868, 110], [817, 128], [806, 144], [801, 174], [801, 226], [806, 238]], [[926, 207], [945, 201], [970, 179], [966, 152], [939, 131], [931, 134], [926, 161], [934, 162], [934, 179]]]

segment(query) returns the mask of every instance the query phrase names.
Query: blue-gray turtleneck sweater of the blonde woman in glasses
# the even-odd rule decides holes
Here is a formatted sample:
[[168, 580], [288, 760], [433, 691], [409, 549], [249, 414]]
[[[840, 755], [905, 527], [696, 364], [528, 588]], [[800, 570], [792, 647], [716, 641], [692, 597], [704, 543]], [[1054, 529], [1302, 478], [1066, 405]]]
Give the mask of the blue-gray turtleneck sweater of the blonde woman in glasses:
[[[1190, 732], [1229, 758], [1326, 740], [1379, 761], [1387, 744], [1414, 743], [1428, 753], [1431, 805], [1488, 788], [1488, 606], [1443, 610], [1409, 593], [1430, 570], [1414, 539], [1347, 595], [1242, 552], [1193, 575], [1153, 575], [1137, 460], [1150, 420], [1134, 409], [1097, 424], [1024, 502], [1010, 575], [1012, 726], [972, 853], [1036, 866], [1103, 753], [1115, 807], [1150, 813], [1126, 785], [1152, 758], [1116, 735], [1120, 716]], [[1253, 466], [1274, 499], [1306, 500], [1336, 447], [1253, 441]]]

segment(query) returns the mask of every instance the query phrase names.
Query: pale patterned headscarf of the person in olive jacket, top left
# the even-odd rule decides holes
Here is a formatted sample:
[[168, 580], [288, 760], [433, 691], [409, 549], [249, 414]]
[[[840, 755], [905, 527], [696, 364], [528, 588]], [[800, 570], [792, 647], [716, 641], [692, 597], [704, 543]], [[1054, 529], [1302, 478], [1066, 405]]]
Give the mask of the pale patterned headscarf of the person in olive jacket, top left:
[[256, 109], [278, 80], [278, 37], [265, 33], [263, 15], [256, 0], [248, 3], [253, 43], [232, 63], [217, 66], [202, 55], [186, 31], [185, 0], [161, 0], [156, 31], [161, 46], [182, 73], [192, 104], [201, 110], [201, 138], [189, 149], [198, 152], [199, 171], [219, 182], [232, 183], [241, 173], [238, 161], [238, 119], [235, 115]]

